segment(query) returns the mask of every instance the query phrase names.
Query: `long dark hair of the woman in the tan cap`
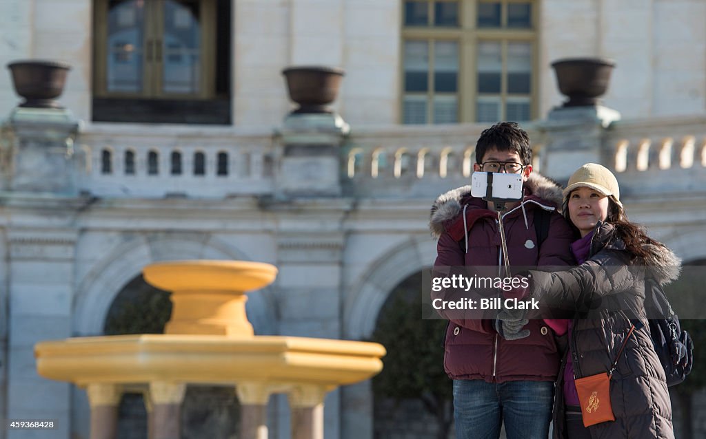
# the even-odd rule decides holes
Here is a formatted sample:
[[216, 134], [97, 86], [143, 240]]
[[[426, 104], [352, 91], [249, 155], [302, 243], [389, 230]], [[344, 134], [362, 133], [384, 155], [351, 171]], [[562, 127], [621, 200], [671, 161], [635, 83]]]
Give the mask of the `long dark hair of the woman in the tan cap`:
[[[572, 191], [573, 192], [573, 191]], [[566, 221], [571, 225], [574, 232], [580, 235], [578, 228], [571, 222], [571, 217], [569, 216], [569, 198], [570, 193], [564, 197], [561, 210]], [[613, 235], [617, 237], [625, 244], [626, 250], [632, 255], [631, 259], [647, 259], [650, 256], [650, 252], [645, 249], [645, 244], [661, 245], [659, 242], [653, 240], [651, 237], [647, 236], [645, 228], [638, 223], [631, 223], [628, 220], [628, 215], [625, 213], [623, 206], [616, 202], [613, 195], [608, 197], [608, 215], [606, 216], [606, 223], [613, 225]]]

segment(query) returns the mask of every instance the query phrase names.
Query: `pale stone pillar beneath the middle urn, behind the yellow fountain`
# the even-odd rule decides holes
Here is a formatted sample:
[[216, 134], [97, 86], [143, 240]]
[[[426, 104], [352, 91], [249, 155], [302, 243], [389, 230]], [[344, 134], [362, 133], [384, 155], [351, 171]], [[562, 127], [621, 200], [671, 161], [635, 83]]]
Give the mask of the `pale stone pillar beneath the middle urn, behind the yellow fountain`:
[[[349, 129], [335, 113], [292, 113], [278, 133], [284, 154], [275, 196], [261, 205], [280, 218], [276, 265], [280, 309], [286, 310], [282, 335], [341, 334], [342, 221], [352, 203], [340, 198], [340, 147]], [[334, 439], [340, 430], [338, 400], [334, 391], [326, 401], [326, 428]]]

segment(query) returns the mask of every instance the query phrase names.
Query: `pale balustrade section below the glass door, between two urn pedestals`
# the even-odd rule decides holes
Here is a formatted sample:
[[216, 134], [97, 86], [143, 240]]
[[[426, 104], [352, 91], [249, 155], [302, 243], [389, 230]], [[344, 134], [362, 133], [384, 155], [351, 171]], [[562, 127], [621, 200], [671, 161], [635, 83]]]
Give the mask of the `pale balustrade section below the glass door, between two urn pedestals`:
[[93, 124], [74, 149], [97, 197], [229, 197], [273, 191], [271, 130]]

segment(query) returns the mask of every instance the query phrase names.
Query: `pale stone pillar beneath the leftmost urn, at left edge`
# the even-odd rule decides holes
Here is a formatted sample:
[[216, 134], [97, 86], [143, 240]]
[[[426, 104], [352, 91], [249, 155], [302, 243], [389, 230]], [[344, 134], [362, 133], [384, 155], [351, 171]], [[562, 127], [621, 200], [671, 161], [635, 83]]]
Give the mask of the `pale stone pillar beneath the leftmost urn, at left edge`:
[[[2, 124], [0, 143], [8, 246], [7, 292], [0, 292], [0, 300], [12, 305], [12, 314], [0, 322], [7, 322], [9, 334], [5, 415], [54, 419], [56, 438], [70, 435], [70, 385], [40, 378], [27, 365], [33, 364], [36, 342], [71, 337], [78, 239], [74, 213], [86, 203], [76, 196], [77, 130], [70, 111], [17, 108]], [[26, 434], [7, 431], [6, 438]]]

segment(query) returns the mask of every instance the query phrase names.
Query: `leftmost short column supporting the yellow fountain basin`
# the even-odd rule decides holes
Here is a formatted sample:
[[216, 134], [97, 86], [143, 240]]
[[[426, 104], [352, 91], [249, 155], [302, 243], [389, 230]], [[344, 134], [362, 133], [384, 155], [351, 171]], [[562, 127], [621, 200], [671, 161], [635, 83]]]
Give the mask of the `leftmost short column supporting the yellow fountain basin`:
[[115, 439], [121, 389], [115, 384], [89, 384], [90, 439]]

